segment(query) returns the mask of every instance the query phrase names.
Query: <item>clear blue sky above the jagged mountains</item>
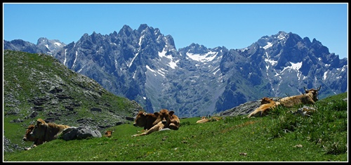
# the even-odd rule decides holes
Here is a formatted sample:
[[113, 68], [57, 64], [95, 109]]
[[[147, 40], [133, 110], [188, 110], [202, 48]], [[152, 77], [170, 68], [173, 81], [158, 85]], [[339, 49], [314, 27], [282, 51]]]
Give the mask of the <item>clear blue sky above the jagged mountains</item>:
[[3, 39], [37, 44], [39, 37], [77, 42], [128, 25], [159, 28], [176, 48], [246, 48], [279, 31], [317, 39], [347, 58], [348, 4], [3, 4]]

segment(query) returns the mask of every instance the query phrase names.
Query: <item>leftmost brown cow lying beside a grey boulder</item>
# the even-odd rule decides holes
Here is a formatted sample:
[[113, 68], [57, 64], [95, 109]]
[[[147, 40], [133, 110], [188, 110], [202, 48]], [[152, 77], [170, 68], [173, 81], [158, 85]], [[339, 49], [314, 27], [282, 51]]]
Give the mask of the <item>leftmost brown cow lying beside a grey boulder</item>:
[[46, 123], [43, 119], [37, 119], [37, 124], [34, 126], [31, 136], [43, 142], [54, 140], [60, 136], [62, 131], [70, 126]]

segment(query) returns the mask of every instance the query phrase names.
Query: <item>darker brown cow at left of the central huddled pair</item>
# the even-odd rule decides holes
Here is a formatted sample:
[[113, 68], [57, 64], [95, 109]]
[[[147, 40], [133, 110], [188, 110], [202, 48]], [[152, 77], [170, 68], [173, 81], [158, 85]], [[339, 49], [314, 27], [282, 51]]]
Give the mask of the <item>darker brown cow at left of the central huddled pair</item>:
[[144, 127], [144, 131], [147, 131], [152, 128], [152, 126], [154, 126], [154, 121], [156, 121], [158, 116], [159, 112], [154, 112], [154, 114], [147, 114], [146, 112], [140, 111], [135, 117], [133, 126]]

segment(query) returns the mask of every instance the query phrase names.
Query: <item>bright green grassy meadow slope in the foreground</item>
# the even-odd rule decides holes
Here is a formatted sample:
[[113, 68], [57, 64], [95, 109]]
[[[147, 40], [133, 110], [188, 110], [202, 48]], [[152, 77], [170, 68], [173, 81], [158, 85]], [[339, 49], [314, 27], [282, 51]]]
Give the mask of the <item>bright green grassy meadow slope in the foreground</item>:
[[347, 93], [317, 101], [310, 117], [278, 107], [266, 117], [225, 117], [178, 131], [131, 137], [142, 128], [114, 126], [112, 138], [53, 140], [6, 152], [4, 161], [347, 161]]

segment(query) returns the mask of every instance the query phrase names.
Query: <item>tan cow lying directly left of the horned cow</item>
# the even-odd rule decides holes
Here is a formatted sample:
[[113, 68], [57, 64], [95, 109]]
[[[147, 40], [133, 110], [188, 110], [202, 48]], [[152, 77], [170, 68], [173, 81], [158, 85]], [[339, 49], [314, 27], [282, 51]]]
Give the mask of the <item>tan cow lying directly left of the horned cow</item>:
[[269, 110], [272, 110], [272, 108], [277, 107], [279, 103], [275, 103], [275, 101], [272, 98], [262, 98], [260, 107], [256, 108], [253, 112], [251, 112], [247, 118], [250, 117], [263, 117], [267, 115]]

